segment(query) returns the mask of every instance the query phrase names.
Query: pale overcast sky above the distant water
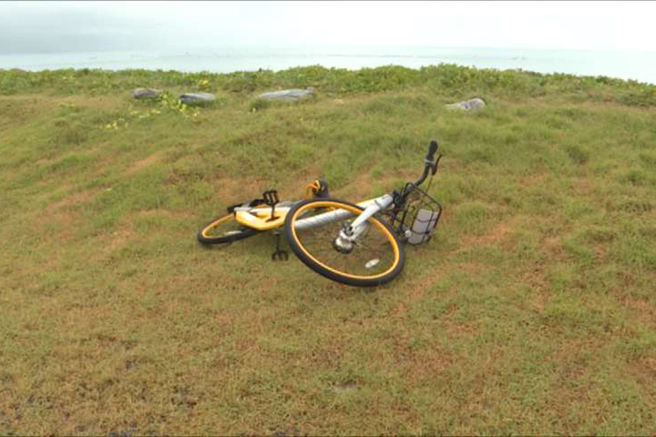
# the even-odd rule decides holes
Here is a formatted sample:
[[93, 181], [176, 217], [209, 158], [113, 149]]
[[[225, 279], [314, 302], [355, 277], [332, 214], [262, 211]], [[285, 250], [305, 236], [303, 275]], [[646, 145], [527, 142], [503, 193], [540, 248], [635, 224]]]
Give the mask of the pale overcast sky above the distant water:
[[212, 46], [656, 52], [656, 2], [0, 2], [0, 53]]

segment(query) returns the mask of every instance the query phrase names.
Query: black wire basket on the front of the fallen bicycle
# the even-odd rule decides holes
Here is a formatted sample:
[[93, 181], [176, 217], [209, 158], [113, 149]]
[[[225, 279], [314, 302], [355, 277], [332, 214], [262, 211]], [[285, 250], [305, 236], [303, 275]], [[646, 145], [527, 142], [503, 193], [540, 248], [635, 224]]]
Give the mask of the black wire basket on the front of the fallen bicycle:
[[413, 183], [408, 183], [404, 191], [410, 194], [404, 208], [395, 211], [392, 226], [406, 243], [423, 244], [433, 237], [442, 205]]

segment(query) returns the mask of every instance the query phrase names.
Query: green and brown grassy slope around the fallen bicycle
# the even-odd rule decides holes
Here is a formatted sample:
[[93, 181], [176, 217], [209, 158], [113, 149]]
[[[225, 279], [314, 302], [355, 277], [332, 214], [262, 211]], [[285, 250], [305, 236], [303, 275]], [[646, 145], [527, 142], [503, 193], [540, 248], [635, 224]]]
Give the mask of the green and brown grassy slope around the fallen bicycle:
[[[317, 97], [256, 99], [284, 86]], [[0, 434], [653, 432], [654, 106], [456, 66], [0, 71]], [[267, 188], [395, 188], [433, 137], [445, 215], [387, 286], [195, 240]]]

